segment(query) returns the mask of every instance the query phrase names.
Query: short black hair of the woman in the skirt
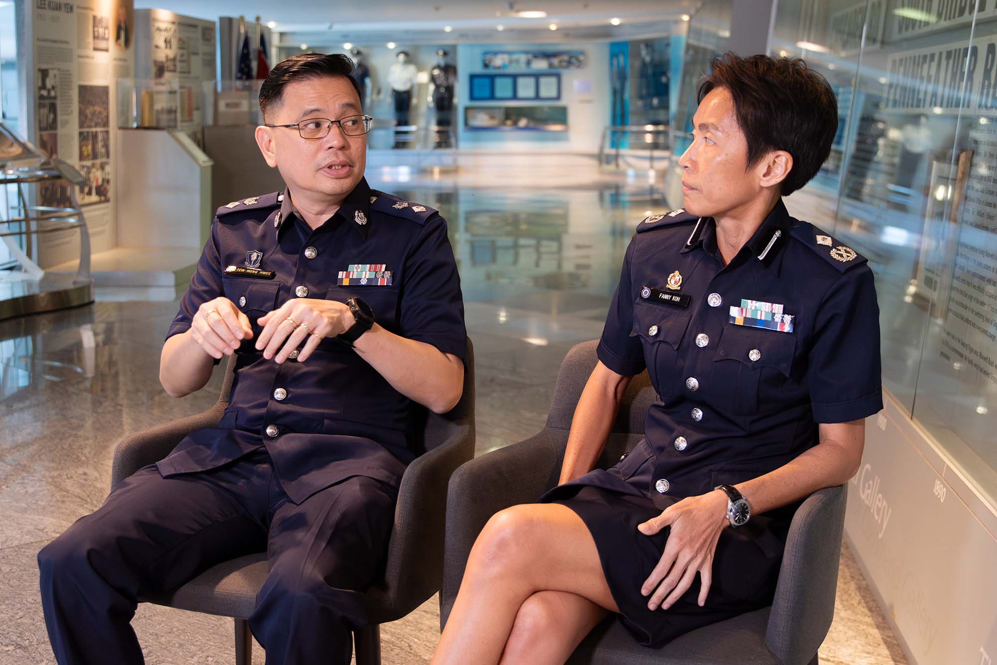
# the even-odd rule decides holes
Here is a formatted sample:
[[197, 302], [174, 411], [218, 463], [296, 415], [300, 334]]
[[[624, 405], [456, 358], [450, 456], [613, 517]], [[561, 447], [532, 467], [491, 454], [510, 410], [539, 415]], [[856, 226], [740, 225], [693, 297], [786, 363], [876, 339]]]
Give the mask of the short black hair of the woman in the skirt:
[[699, 102], [715, 88], [734, 98], [738, 125], [748, 142], [748, 167], [771, 151], [793, 156], [782, 183], [788, 195], [807, 184], [831, 154], [837, 100], [828, 80], [800, 58], [726, 53], [699, 86]]

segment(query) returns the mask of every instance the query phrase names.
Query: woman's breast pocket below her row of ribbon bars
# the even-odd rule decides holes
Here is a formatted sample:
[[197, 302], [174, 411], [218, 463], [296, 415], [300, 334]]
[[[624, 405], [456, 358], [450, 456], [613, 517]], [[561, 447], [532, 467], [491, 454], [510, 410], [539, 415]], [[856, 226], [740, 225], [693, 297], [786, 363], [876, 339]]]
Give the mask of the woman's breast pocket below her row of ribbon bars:
[[796, 349], [793, 333], [726, 324], [713, 357], [711, 383], [724, 391], [716, 407], [740, 416], [778, 410]]

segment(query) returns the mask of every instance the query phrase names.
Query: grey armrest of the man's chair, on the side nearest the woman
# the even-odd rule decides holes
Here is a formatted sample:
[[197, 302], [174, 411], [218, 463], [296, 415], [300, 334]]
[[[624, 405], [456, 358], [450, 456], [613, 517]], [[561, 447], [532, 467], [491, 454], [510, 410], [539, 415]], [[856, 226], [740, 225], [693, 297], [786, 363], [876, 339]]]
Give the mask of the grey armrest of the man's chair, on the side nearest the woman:
[[384, 582], [365, 593], [371, 621], [400, 619], [440, 590], [447, 485], [474, 454], [474, 422], [461, 420], [451, 424], [443, 444], [416, 458], [405, 470]]

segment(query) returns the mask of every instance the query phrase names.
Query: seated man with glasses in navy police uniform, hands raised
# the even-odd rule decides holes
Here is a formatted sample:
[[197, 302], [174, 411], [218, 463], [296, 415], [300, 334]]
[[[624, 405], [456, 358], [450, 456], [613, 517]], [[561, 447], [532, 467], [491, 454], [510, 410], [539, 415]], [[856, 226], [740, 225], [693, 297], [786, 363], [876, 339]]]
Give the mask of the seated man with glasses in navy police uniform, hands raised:
[[142, 663], [140, 596], [261, 551], [249, 627], [266, 662], [350, 662], [412, 435], [459, 401], [467, 350], [446, 221], [363, 178], [352, 71], [302, 54], [260, 88], [256, 142], [287, 186], [218, 208], [160, 365], [179, 397], [235, 354], [229, 406], [39, 553], [62, 665]]

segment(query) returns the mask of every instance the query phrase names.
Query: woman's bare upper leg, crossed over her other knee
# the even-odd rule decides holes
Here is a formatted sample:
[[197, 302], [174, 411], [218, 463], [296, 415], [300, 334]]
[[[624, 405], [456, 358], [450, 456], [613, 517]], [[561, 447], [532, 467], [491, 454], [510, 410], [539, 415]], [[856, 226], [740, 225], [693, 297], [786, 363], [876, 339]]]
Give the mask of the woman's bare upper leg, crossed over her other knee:
[[588, 527], [559, 503], [514, 505], [485, 525], [433, 663], [498, 663], [519, 607], [537, 591], [567, 591], [616, 611]]

